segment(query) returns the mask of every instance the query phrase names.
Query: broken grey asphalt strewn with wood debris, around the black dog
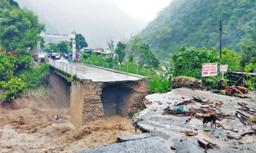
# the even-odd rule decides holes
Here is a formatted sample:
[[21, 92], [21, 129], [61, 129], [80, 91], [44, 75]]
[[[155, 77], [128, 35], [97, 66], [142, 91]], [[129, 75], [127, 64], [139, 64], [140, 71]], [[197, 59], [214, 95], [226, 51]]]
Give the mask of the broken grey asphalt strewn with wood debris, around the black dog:
[[[238, 133], [225, 130], [222, 127], [211, 127], [210, 124], [203, 126], [202, 120], [192, 117], [190, 122], [186, 122], [188, 117], [162, 115], [163, 109], [174, 105], [178, 102], [190, 100], [192, 96], [200, 96], [205, 100], [223, 101], [223, 105], [218, 107], [224, 114], [235, 114], [238, 108], [237, 102], [247, 103], [247, 107], [256, 108], [256, 94], [246, 94], [251, 98], [241, 99], [231, 96], [214, 94], [211, 91], [192, 90], [188, 88], [177, 88], [165, 94], [151, 94], [146, 96], [152, 104], [146, 105], [147, 108], [141, 111], [138, 118], [143, 121], [137, 122], [139, 126], [150, 131], [151, 137], [130, 140], [122, 143], [108, 145], [80, 153], [123, 153], [123, 152], [140, 152], [140, 153], [165, 153], [174, 152], [171, 146], [176, 148], [176, 153], [255, 153], [256, 152], [256, 135], [246, 135], [241, 140], [228, 139], [228, 135], [238, 137], [239, 135], [252, 132], [249, 125], [244, 125], [238, 118], [223, 118], [217, 123], [223, 125], [226, 129], [238, 129]], [[159, 105], [157, 101], [161, 101]], [[200, 108], [200, 103], [190, 103], [181, 105], [187, 108]], [[248, 115], [248, 114], [247, 114]], [[255, 125], [253, 125], [254, 128]], [[208, 129], [209, 131], [204, 131]], [[196, 136], [186, 136], [186, 131], [197, 132]], [[185, 136], [187, 140], [182, 139]], [[217, 144], [220, 149], [207, 149], [198, 146], [197, 140], [206, 139], [213, 144]], [[125, 147], [124, 147], [125, 146]]]

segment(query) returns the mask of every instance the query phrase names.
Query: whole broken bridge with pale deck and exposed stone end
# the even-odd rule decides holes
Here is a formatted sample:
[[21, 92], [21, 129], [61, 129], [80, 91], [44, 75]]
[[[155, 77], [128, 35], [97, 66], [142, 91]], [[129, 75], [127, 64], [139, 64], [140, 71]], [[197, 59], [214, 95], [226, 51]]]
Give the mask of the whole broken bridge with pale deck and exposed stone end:
[[[75, 127], [107, 116], [132, 117], [144, 108], [149, 93], [149, 77], [128, 76], [97, 66], [50, 60], [50, 80], [56, 91], [56, 103], [70, 106]], [[67, 79], [76, 74], [74, 81]], [[64, 105], [63, 105], [64, 104]]]

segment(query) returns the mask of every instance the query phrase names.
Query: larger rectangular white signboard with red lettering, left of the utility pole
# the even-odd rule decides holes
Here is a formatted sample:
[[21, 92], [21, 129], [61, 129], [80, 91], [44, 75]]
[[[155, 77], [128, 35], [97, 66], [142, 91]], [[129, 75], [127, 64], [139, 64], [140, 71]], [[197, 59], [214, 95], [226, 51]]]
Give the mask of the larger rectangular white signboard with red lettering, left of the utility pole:
[[203, 63], [202, 77], [217, 76], [218, 63]]

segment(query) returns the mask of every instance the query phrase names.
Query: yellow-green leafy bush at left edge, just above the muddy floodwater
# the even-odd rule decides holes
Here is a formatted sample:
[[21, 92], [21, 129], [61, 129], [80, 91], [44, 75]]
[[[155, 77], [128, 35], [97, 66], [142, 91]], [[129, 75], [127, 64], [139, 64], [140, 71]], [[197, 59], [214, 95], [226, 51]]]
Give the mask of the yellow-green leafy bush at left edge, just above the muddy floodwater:
[[7, 102], [20, 98], [22, 94], [28, 91], [28, 84], [19, 77], [11, 77], [8, 82], [2, 81], [0, 86], [3, 90], [0, 98]]

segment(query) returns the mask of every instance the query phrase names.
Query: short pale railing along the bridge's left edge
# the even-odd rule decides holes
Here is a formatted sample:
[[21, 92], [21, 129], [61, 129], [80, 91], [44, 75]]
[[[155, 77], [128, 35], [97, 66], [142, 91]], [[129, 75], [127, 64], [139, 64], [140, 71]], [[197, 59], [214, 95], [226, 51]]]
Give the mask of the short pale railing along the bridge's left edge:
[[76, 74], [76, 77], [83, 79], [83, 73], [81, 70], [74, 68], [72, 66], [69, 66], [64, 63], [57, 62], [55, 60], [49, 59], [48, 62], [50, 65], [52, 65], [55, 68], [58, 68], [59, 70], [62, 70], [63, 72], [66, 72], [67, 74]]

